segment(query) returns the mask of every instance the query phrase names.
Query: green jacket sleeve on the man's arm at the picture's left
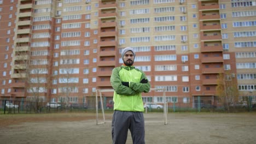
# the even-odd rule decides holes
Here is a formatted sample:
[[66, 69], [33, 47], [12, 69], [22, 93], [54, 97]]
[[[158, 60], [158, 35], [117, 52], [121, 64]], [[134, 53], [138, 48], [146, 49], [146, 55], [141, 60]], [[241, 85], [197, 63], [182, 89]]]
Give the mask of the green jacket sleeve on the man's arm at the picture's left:
[[130, 87], [123, 86], [121, 83], [121, 79], [119, 76], [119, 68], [114, 68], [112, 70], [112, 75], [110, 77], [110, 83], [111, 86], [113, 87], [114, 91], [117, 94], [120, 95], [136, 95], [138, 92], [134, 91]]

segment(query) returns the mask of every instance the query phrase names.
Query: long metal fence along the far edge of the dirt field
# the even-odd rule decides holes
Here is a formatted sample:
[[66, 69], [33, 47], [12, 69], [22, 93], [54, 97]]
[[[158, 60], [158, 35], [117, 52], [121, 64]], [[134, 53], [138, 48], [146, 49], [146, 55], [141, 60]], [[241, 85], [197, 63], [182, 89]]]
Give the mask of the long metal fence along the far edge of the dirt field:
[[[103, 109], [106, 111], [113, 111], [113, 97], [103, 97]], [[150, 102], [150, 101], [147, 101]], [[158, 105], [163, 105], [161, 101], [152, 101]], [[256, 104], [252, 101], [243, 101], [232, 105], [232, 112], [248, 112], [256, 111]], [[148, 112], [158, 112], [162, 109], [153, 109], [149, 107]], [[152, 109], [151, 109], [152, 108]], [[100, 98], [98, 98], [98, 109], [101, 110]], [[194, 97], [193, 100], [186, 100], [184, 98], [177, 98], [172, 101], [167, 101], [168, 112], [203, 112], [203, 111], [227, 111], [224, 106], [219, 104], [217, 99]], [[91, 111], [96, 112], [95, 97], [87, 97], [86, 103], [48, 103], [48, 102], [34, 102], [34, 101], [19, 101], [19, 100], [0, 100], [0, 113], [53, 113], [53, 112], [82, 112]]]

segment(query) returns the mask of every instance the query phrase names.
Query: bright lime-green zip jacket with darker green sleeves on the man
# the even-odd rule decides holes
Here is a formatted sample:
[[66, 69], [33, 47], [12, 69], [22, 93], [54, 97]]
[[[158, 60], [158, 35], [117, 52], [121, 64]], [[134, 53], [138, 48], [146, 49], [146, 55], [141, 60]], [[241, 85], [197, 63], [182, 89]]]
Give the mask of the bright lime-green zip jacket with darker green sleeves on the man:
[[[144, 111], [141, 93], [149, 92], [150, 83], [140, 83], [142, 79], [147, 79], [146, 75], [135, 67], [122, 65], [112, 70], [110, 82], [114, 88], [114, 110]], [[121, 82], [129, 82], [129, 87]]]

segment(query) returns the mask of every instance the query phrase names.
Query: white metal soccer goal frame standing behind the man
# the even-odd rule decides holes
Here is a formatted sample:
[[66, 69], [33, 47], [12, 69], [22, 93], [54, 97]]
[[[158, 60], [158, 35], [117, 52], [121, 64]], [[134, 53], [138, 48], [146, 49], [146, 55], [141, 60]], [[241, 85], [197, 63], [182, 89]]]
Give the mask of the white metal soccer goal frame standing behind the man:
[[[145, 121], [145, 123], [161, 123], [164, 122], [164, 124], [167, 124], [167, 102], [166, 102], [166, 95], [165, 95], [165, 89], [164, 88], [150, 88], [150, 91], [157, 91], [157, 92], [162, 92], [162, 101], [161, 103], [145, 103], [145, 104], [162, 104], [163, 105], [163, 110], [164, 110], [164, 121]], [[103, 92], [114, 92], [114, 89], [96, 89], [96, 124], [104, 124], [106, 123], [106, 118], [105, 118], [105, 113], [104, 113], [104, 106], [103, 106], [103, 99], [102, 99], [102, 93]], [[100, 99], [100, 101], [98, 101], [98, 99]], [[98, 104], [100, 102], [100, 106], [101, 106], [101, 111], [102, 114], [100, 114], [99, 110], [98, 110]], [[145, 110], [145, 113], [148, 113], [147, 107]], [[102, 118], [99, 117], [99, 115], [102, 115]], [[147, 115], [148, 116], [148, 115]]]

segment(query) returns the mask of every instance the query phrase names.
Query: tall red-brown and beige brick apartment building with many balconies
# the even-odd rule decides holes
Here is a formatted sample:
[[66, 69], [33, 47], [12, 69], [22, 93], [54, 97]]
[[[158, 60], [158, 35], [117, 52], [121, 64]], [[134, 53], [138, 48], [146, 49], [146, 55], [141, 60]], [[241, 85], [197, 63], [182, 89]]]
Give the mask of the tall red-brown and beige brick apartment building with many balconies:
[[256, 101], [255, 0], [0, 0], [0, 11], [1, 99], [86, 103], [112, 89], [129, 46], [170, 103], [217, 105], [223, 73]]

